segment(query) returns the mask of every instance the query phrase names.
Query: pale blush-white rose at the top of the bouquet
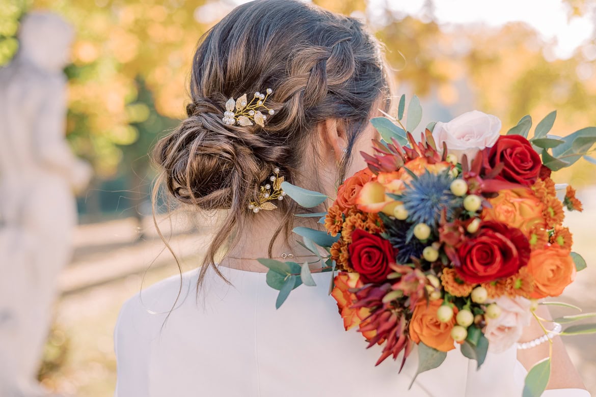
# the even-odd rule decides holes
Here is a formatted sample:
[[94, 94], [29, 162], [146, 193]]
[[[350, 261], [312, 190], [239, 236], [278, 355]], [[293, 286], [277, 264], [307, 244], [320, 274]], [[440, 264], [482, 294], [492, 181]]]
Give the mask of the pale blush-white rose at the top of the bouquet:
[[465, 154], [471, 163], [479, 151], [495, 144], [500, 132], [501, 120], [498, 117], [473, 110], [449, 123], [439, 121], [434, 126], [433, 137], [438, 149], [445, 142], [448, 153], [456, 155], [460, 162]]

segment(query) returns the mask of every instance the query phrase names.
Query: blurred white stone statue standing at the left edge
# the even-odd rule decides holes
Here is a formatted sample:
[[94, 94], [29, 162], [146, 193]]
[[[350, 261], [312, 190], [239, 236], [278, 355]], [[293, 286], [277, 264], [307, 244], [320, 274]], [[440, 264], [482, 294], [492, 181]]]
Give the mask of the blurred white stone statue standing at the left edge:
[[74, 31], [48, 12], [21, 25], [20, 50], [0, 69], [0, 396], [46, 395], [36, 382], [72, 255], [73, 190], [91, 168], [66, 140], [66, 76]]

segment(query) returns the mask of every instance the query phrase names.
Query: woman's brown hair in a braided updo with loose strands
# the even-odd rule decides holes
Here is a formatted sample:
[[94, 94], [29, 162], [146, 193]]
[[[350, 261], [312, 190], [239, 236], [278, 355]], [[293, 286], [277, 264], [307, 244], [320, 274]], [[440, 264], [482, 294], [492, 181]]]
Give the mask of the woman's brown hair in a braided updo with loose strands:
[[[191, 71], [186, 118], [154, 150], [162, 169], [159, 183], [173, 197], [200, 210], [229, 210], [207, 250], [199, 284], [209, 266], [222, 276], [215, 255], [254, 215], [263, 181], [279, 167], [290, 183], [303, 178], [300, 167], [316, 124], [335, 118], [346, 126], [347, 151], [368, 124], [378, 99], [389, 104], [380, 49], [354, 18], [295, 0], [256, 0], [240, 5], [198, 44]], [[225, 102], [271, 88], [275, 110], [265, 127], [222, 122]], [[296, 204], [279, 203], [283, 221], [269, 243], [290, 234]], [[250, 211], [250, 213], [249, 213]], [[171, 250], [170, 250], [171, 251]], [[207, 266], [206, 266], [207, 265]], [[222, 276], [223, 277], [223, 276]]]

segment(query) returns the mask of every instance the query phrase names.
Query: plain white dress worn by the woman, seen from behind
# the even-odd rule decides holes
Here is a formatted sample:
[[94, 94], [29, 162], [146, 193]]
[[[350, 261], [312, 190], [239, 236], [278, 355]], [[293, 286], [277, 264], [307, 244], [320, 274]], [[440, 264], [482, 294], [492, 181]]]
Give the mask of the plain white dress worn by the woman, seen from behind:
[[[514, 349], [489, 353], [480, 371], [455, 349], [408, 391], [417, 353], [399, 374], [401, 355], [375, 367], [380, 347], [343, 329], [330, 273], [313, 274], [316, 287], [298, 287], [275, 310], [265, 273], [221, 270], [232, 285], [208, 271], [198, 297], [198, 270], [184, 273], [167, 321], [179, 276], [126, 301], [114, 331], [117, 397], [522, 396]], [[560, 392], [549, 395], [589, 396]]]

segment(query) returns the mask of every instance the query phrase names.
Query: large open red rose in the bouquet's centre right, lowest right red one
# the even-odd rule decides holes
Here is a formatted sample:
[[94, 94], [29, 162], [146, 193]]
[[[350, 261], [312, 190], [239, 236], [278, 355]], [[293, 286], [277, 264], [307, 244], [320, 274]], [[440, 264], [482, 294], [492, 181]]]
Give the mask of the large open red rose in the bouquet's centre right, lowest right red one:
[[461, 279], [467, 283], [489, 282], [513, 276], [530, 260], [530, 243], [520, 230], [504, 223], [486, 221], [476, 235], [457, 249]]

